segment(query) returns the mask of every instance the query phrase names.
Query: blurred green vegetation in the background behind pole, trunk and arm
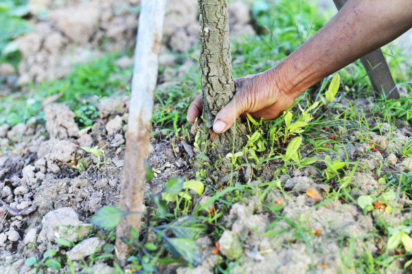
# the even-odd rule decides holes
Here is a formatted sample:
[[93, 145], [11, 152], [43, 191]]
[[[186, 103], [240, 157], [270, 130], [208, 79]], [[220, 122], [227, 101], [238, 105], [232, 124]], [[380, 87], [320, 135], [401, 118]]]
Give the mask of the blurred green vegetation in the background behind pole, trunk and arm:
[[[233, 38], [234, 76], [237, 78], [272, 67], [317, 32], [335, 12], [334, 9], [319, 8], [319, 5], [312, 1], [253, 1], [251, 25], [257, 35]], [[14, 38], [33, 30], [30, 16], [25, 0], [1, 1], [0, 25], [3, 27], [0, 29], [0, 63], [7, 62], [18, 67], [21, 54]], [[412, 76], [412, 69], [401, 69], [401, 66], [407, 63], [411, 56], [402, 52], [402, 47], [386, 46], [384, 52], [396, 82], [407, 82]], [[198, 44], [187, 52], [171, 54], [176, 56], [176, 69], [179, 69], [187, 60], [197, 62]], [[58, 102], [69, 105], [76, 113], [80, 126], [89, 126], [99, 115], [96, 106], [100, 98], [113, 94], [127, 95], [129, 92], [133, 67], [119, 69], [115, 61], [122, 56], [133, 56], [133, 47], [126, 52], [107, 52], [102, 58], [77, 65], [65, 78], [29, 84], [23, 88], [13, 87], [11, 92], [1, 95], [0, 124], [15, 125], [26, 122], [30, 117], [42, 119], [42, 102], [49, 96], [60, 94]], [[159, 84], [166, 69], [159, 69]], [[194, 69], [186, 72], [185, 80], [178, 87], [157, 91], [157, 103], [161, 108], [155, 113], [155, 125], [185, 124], [185, 115], [179, 114], [185, 113], [192, 95], [200, 90], [199, 73], [198, 65], [194, 65]], [[345, 89], [353, 88], [352, 96], [373, 95], [365, 73], [358, 61], [340, 72]], [[0, 76], [0, 84], [1, 81], [4, 84]], [[387, 101], [382, 104], [387, 107]], [[408, 107], [407, 100], [393, 105], [393, 109], [402, 109], [399, 115], [408, 115], [409, 119]]]

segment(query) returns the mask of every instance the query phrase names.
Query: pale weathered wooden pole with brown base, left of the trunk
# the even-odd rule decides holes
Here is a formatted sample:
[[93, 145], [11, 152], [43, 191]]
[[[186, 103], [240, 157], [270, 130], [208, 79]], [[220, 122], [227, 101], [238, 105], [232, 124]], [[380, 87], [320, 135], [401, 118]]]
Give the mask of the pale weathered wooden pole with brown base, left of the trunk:
[[[144, 161], [148, 157], [165, 4], [166, 0], [141, 1], [120, 193], [120, 209], [124, 212], [142, 211], [146, 180]], [[139, 232], [140, 222], [141, 214], [130, 214], [117, 226], [117, 258], [122, 266], [130, 251], [122, 237], [130, 237], [132, 227]]]

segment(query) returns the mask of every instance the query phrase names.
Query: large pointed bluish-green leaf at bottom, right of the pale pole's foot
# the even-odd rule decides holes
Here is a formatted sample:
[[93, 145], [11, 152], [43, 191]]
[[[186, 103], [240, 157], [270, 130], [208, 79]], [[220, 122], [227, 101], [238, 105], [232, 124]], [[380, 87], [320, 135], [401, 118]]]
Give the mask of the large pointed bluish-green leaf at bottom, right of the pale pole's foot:
[[166, 240], [187, 262], [193, 265], [201, 264], [201, 251], [194, 240], [186, 238], [166, 238]]

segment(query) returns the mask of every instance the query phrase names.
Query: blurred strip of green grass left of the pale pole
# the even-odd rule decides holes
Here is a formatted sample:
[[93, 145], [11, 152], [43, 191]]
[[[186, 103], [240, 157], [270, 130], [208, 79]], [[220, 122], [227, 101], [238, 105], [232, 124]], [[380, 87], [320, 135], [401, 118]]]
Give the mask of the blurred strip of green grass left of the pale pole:
[[[43, 101], [52, 95], [59, 95], [57, 102], [65, 102], [72, 111], [84, 113], [87, 105], [97, 106], [98, 100], [114, 93], [128, 94], [131, 69], [121, 71], [116, 65], [116, 54], [77, 65], [62, 80], [42, 82], [29, 87], [29, 91], [12, 93], [0, 102], [0, 124], [10, 125], [27, 122], [30, 117], [43, 118]], [[84, 110], [84, 111], [82, 111]], [[91, 113], [95, 117], [95, 113]]]

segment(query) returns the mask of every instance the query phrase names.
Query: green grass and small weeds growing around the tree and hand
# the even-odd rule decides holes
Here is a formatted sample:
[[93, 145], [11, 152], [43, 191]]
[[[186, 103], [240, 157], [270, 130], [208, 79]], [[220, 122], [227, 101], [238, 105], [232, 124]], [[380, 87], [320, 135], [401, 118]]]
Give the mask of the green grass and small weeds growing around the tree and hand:
[[[266, 3], [266, 5], [264, 4]], [[255, 1], [252, 7], [253, 20], [258, 27], [260, 36], [238, 38], [232, 43], [233, 54], [233, 74], [234, 77], [242, 77], [251, 73], [258, 73], [275, 65], [276, 61], [282, 60], [290, 52], [293, 52], [301, 43], [306, 41], [308, 36], [311, 36], [319, 30], [331, 14], [319, 16], [317, 8], [307, 3], [306, 1]], [[198, 56], [194, 55], [196, 48], [192, 49], [187, 54], [177, 55], [179, 59], [176, 69], [179, 70], [181, 64], [185, 60], [193, 59], [195, 62], [186, 69], [181, 76], [174, 76], [172, 80], [179, 83], [170, 86], [168, 89], [158, 87], [155, 99], [155, 111], [152, 117], [152, 135], [157, 135], [161, 132], [172, 132], [174, 137], [183, 137], [189, 141], [191, 139], [188, 134], [190, 124], [185, 121], [185, 113], [192, 100], [192, 96], [201, 90], [200, 71], [198, 69]], [[402, 56], [402, 52], [398, 49], [385, 49], [388, 57], [396, 56], [396, 58], [388, 58], [389, 64], [396, 82], [407, 82], [407, 79], [412, 77], [412, 69], [409, 67], [407, 71], [400, 72], [399, 67], [404, 62], [408, 61], [408, 57]], [[32, 87], [30, 93], [15, 94], [8, 98], [3, 98], [0, 102], [0, 111], [3, 113], [0, 117], [0, 123], [8, 122], [16, 124], [25, 122], [30, 117], [42, 117], [42, 106], [44, 98], [49, 95], [56, 95], [62, 92], [62, 97], [59, 102], [65, 102], [73, 111], [78, 114], [78, 117], [84, 117], [84, 121], [93, 122], [93, 119], [98, 117], [95, 106], [98, 104], [99, 98], [113, 95], [113, 93], [128, 93], [127, 79], [131, 75], [131, 70], [126, 69], [120, 71], [115, 66], [115, 60], [118, 55], [109, 55], [95, 62], [86, 65], [79, 65], [73, 72], [62, 80], [44, 82], [36, 87]], [[161, 67], [159, 73], [162, 75], [166, 68]], [[170, 244], [171, 234], [174, 237], [179, 235], [173, 231], [176, 227], [180, 229], [200, 229], [203, 234], [210, 236], [216, 242], [222, 232], [226, 229], [222, 220], [224, 216], [229, 214], [229, 211], [235, 203], [246, 203], [251, 198], [259, 201], [260, 206], [265, 214], [268, 214], [271, 220], [271, 225], [268, 226], [264, 236], [268, 240], [281, 241], [279, 242], [284, 247], [291, 247], [293, 244], [305, 244], [308, 253], [321, 253], [321, 247], [316, 244], [316, 236], [314, 236], [313, 228], [310, 227], [310, 221], [304, 218], [290, 220], [284, 214], [285, 205], [281, 202], [274, 203], [273, 196], [284, 198], [284, 202], [290, 201], [290, 193], [284, 190], [284, 183], [280, 180], [288, 174], [293, 174], [295, 170], [304, 170], [306, 166], [302, 164], [304, 157], [317, 157], [317, 163], [312, 165], [314, 170], [319, 172], [314, 176], [315, 183], [330, 187], [330, 192], [323, 194], [324, 199], [321, 203], [314, 205], [315, 209], [319, 209], [333, 203], [341, 201], [356, 206], [359, 209], [358, 201], [354, 198], [353, 192], [358, 190], [359, 186], [352, 183], [354, 172], [367, 171], [367, 163], [361, 161], [363, 157], [358, 157], [358, 161], [350, 161], [348, 151], [350, 144], [365, 144], [365, 152], [362, 156], [376, 158], [377, 167], [373, 171], [367, 171], [371, 176], [380, 179], [380, 183], [384, 185], [385, 192], [392, 190], [407, 198], [412, 198], [412, 174], [402, 170], [388, 169], [384, 167], [382, 159], [379, 159], [373, 151], [372, 135], [374, 133], [382, 135], [383, 129], [381, 124], [387, 122], [391, 128], [390, 131], [399, 123], [406, 123], [410, 126], [411, 123], [411, 100], [412, 96], [401, 98], [400, 100], [385, 100], [385, 98], [373, 98], [371, 84], [366, 76], [366, 71], [361, 66], [360, 62], [354, 62], [339, 71], [342, 78], [341, 89], [337, 95], [347, 93], [341, 102], [337, 98], [334, 104], [335, 109], [332, 109], [332, 104], [319, 104], [317, 111], [312, 113], [313, 119], [308, 124], [302, 127], [302, 132], [296, 135], [280, 135], [280, 133], [288, 132], [285, 122], [286, 115], [282, 115], [274, 121], [254, 121], [249, 120], [249, 143], [242, 149], [243, 154], [233, 160], [232, 170], [245, 170], [249, 165], [253, 167], [255, 172], [262, 172], [265, 168], [272, 169], [273, 180], [264, 181], [264, 176], [253, 176], [252, 181], [261, 180], [260, 185], [244, 184], [245, 181], [236, 181], [236, 176], [229, 180], [228, 183], [216, 182], [216, 185], [209, 185], [208, 196], [211, 196], [211, 204], [214, 204], [219, 212], [204, 212], [203, 208], [195, 203], [189, 203], [179, 196], [177, 203], [170, 206], [170, 212], [165, 214], [164, 203], [153, 198], [150, 194], [148, 199], [152, 201], [148, 204], [151, 212], [146, 216], [147, 221], [142, 228], [140, 236], [134, 235], [128, 242], [135, 248], [133, 256], [130, 257], [130, 262], [135, 270], [146, 271], [150, 273], [157, 264], [168, 264], [171, 262], [183, 262], [179, 258], [179, 253], [173, 249], [173, 244]], [[116, 77], [115, 77], [116, 76]], [[322, 87], [314, 87], [301, 95], [299, 104], [304, 109], [307, 109], [314, 103], [313, 98], [319, 93], [320, 97], [324, 97], [325, 88], [328, 86], [328, 78]], [[312, 94], [311, 94], [312, 93]], [[356, 106], [354, 99], [367, 98], [374, 100], [376, 107], [374, 109], [364, 109], [363, 106]], [[346, 100], [348, 107], [341, 107], [339, 103]], [[296, 122], [301, 117], [301, 111], [297, 106], [291, 112], [292, 121]], [[368, 117], [372, 117], [368, 119]], [[80, 118], [79, 118], [80, 119]], [[374, 124], [372, 124], [374, 122]], [[82, 122], [87, 126], [89, 122]], [[376, 125], [375, 125], [376, 124]], [[282, 128], [279, 135], [271, 135], [273, 128]], [[358, 131], [358, 135], [354, 139], [352, 130]], [[254, 139], [253, 134], [256, 139]], [[301, 137], [302, 144], [297, 148], [297, 157], [286, 159], [290, 145], [290, 140], [295, 137]], [[333, 138], [335, 137], [335, 138]], [[391, 138], [391, 133], [389, 134]], [[398, 157], [411, 157], [412, 141], [409, 140], [397, 154]], [[266, 150], [259, 151], [262, 145]], [[236, 151], [238, 152], [238, 151]], [[235, 152], [235, 153], [236, 153]], [[325, 157], [328, 154], [332, 159]], [[340, 154], [343, 157], [340, 158]], [[282, 158], [283, 157], [283, 158]], [[286, 159], [286, 160], [285, 160]], [[195, 159], [202, 163], [201, 159]], [[270, 166], [269, 166], [270, 164]], [[201, 170], [197, 170], [195, 179], [206, 182], [209, 179], [207, 165], [203, 165]], [[242, 183], [242, 184], [238, 184]], [[222, 189], [220, 189], [222, 186]], [[180, 191], [180, 190], [179, 190]], [[382, 195], [376, 199], [382, 199]], [[153, 199], [152, 199], [153, 198]], [[164, 202], [164, 201], [163, 201]], [[391, 205], [388, 202], [388, 205]], [[392, 206], [392, 205], [391, 205]], [[393, 207], [395, 207], [393, 203]], [[206, 206], [203, 206], [206, 207]], [[163, 210], [163, 213], [162, 213]], [[405, 210], [405, 209], [403, 209]], [[376, 209], [371, 209], [365, 214], [380, 215]], [[197, 214], [200, 214], [197, 216]], [[186, 216], [191, 216], [193, 222], [185, 222], [182, 220]], [[378, 218], [379, 219], [379, 218]], [[411, 225], [411, 216], [404, 220], [401, 225]], [[176, 225], [177, 222], [177, 225]], [[180, 222], [180, 223], [179, 223]], [[175, 227], [170, 228], [171, 224]], [[282, 224], [285, 227], [280, 228]], [[169, 227], [167, 227], [169, 226]], [[389, 236], [390, 223], [385, 220], [374, 222], [373, 235], [359, 236], [359, 238], [341, 237], [334, 239], [340, 243], [341, 250], [339, 256], [343, 262], [343, 273], [385, 273], [385, 271], [393, 271], [391, 263], [398, 258], [404, 261], [410, 260], [411, 255], [404, 252], [400, 255], [393, 255], [388, 251], [372, 254], [367, 246], [359, 249], [359, 242], [364, 242], [370, 237], [376, 240], [387, 238]], [[179, 228], [178, 228], [179, 229]], [[150, 237], [146, 237], [150, 231]], [[155, 233], [155, 234], [153, 234]], [[164, 233], [164, 234], [162, 234]], [[166, 235], [165, 233], [168, 233]], [[155, 235], [155, 236], [153, 236]], [[113, 243], [113, 232], [101, 232], [100, 236], [106, 238]], [[192, 233], [186, 238], [195, 238]], [[149, 239], [150, 238], [150, 239]], [[182, 238], [184, 238], [182, 236]], [[64, 247], [60, 247], [64, 249]], [[106, 255], [106, 257], [104, 257]], [[312, 255], [313, 256], [313, 255]], [[113, 245], [107, 247], [103, 255], [93, 255], [88, 263], [98, 262], [99, 260], [107, 260], [113, 257]], [[184, 257], [184, 256], [183, 256]], [[187, 259], [187, 258], [186, 258]], [[311, 258], [311, 269], [317, 266], [313, 264], [314, 258]], [[235, 262], [236, 263], [236, 262]], [[86, 264], [84, 269], [86, 269]], [[229, 261], [223, 260], [216, 266], [216, 273], [229, 273], [233, 265]], [[120, 271], [119, 271], [120, 272]]]

